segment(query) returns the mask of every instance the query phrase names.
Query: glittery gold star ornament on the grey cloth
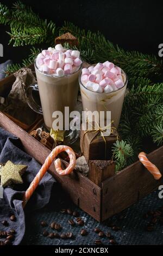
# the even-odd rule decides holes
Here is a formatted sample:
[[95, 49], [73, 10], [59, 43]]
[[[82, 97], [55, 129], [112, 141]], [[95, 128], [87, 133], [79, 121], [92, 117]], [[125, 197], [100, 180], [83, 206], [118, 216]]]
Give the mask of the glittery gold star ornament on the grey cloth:
[[1, 186], [7, 187], [12, 184], [22, 184], [21, 176], [26, 169], [27, 166], [8, 161], [5, 166], [0, 167]]

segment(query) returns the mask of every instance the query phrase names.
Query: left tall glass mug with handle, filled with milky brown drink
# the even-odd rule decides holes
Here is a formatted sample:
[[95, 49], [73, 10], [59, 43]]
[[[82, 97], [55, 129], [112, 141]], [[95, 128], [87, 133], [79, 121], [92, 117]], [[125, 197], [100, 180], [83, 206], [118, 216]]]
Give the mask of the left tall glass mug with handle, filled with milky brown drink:
[[[65, 107], [69, 107], [69, 111], [74, 111], [77, 103], [79, 89], [79, 74], [82, 65], [78, 71], [64, 75], [62, 77], [55, 75], [47, 75], [39, 71], [35, 61], [35, 72], [37, 84], [29, 87], [28, 104], [37, 113], [43, 113], [45, 127], [49, 131], [52, 128], [55, 118], [52, 117], [53, 112], [60, 111], [63, 114], [63, 123], [65, 120]], [[32, 97], [32, 90], [39, 90], [41, 106], [37, 105]], [[67, 143], [71, 144], [76, 141], [78, 131], [71, 129], [66, 131]]]

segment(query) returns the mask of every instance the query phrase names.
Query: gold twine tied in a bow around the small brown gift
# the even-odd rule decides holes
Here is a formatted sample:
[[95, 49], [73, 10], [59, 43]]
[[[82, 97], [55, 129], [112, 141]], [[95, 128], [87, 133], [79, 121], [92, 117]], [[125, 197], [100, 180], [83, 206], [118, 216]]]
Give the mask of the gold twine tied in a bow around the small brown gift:
[[[89, 122], [89, 121], [88, 121]], [[90, 122], [89, 122], [90, 123]], [[105, 143], [105, 159], [106, 159], [106, 139], [105, 139], [105, 136], [104, 136], [104, 132], [111, 126], [111, 124], [114, 123], [114, 120], [111, 120], [110, 124], [109, 125], [106, 125], [104, 127], [100, 127], [96, 121], [96, 124], [98, 126], [98, 129], [95, 129], [95, 127], [92, 125], [93, 129], [92, 130], [87, 130], [84, 132], [84, 135], [83, 135], [83, 152], [84, 152], [84, 147], [85, 147], [85, 135], [86, 133], [88, 132], [91, 132], [91, 133], [96, 133], [95, 137], [92, 138], [91, 142], [93, 141], [93, 139], [95, 139], [99, 133], [101, 133], [102, 137], [103, 137], [103, 140], [104, 140], [104, 143]], [[115, 127], [111, 127], [111, 130], [110, 130], [110, 135], [109, 136], [115, 136], [113, 135], [112, 133], [114, 132], [114, 130], [117, 130]], [[117, 136], [117, 139], [118, 139], [118, 135]], [[90, 143], [91, 143], [90, 142]]]

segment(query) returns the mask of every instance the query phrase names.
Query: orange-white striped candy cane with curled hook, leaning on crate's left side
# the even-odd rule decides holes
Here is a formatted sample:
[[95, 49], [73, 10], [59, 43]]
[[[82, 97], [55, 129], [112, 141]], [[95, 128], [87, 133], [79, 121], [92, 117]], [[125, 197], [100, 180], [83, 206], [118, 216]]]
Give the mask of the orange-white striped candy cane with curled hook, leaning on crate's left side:
[[72, 150], [72, 148], [65, 146], [65, 145], [60, 145], [60, 146], [55, 147], [52, 150], [51, 154], [49, 154], [49, 156], [45, 160], [45, 163], [43, 163], [41, 169], [35, 176], [34, 180], [31, 182], [29, 188], [25, 192], [24, 198], [23, 198], [23, 208], [27, 204], [29, 198], [32, 196], [36, 187], [39, 185], [39, 182], [41, 181], [41, 179], [43, 178], [43, 176], [45, 175], [45, 173], [51, 166], [55, 157], [57, 157], [58, 154], [61, 153], [62, 151], [66, 151], [66, 153], [68, 154], [68, 156], [70, 158], [70, 163], [68, 164], [68, 166], [65, 170], [62, 170], [61, 169], [61, 161], [60, 161], [60, 159], [57, 159], [54, 161], [55, 169], [60, 175], [68, 175], [72, 172], [72, 170], [74, 169], [74, 167], [76, 165], [76, 155], [74, 154], [74, 151]]

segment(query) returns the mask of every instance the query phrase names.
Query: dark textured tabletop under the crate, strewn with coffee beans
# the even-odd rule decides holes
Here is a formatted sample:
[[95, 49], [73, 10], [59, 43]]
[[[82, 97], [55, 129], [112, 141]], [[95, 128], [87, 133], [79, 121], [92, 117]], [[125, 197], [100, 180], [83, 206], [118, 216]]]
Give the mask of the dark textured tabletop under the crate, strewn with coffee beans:
[[[33, 215], [26, 216], [26, 235], [22, 244], [25, 245], [95, 245], [95, 240], [100, 239], [98, 234], [92, 230], [99, 227], [105, 233], [110, 231], [114, 235], [118, 245], [162, 245], [163, 244], [163, 225], [155, 225], [155, 230], [148, 232], [145, 231], [145, 227], [149, 222], [149, 219], [144, 219], [142, 216], [149, 210], [156, 210], [163, 205], [163, 199], [158, 197], [159, 190], [149, 194], [146, 198], [143, 198], [138, 203], [130, 206], [130, 208], [124, 210], [121, 216], [124, 216], [120, 220], [120, 215], [113, 216], [111, 221], [121, 227], [120, 231], [113, 231], [107, 226], [108, 221], [99, 224], [91, 216], [87, 215], [84, 211], [78, 209], [70, 200], [66, 198], [66, 195], [60, 190], [59, 186], [55, 187], [53, 191], [51, 202], [46, 208], [34, 212]], [[84, 228], [88, 231], [87, 236], [81, 236], [80, 230], [83, 227], [79, 227], [77, 224], [72, 227], [68, 224], [70, 218], [74, 218], [67, 214], [61, 214], [60, 209], [71, 208], [72, 210], [79, 211], [80, 217], [85, 221]], [[74, 218], [75, 220], [75, 218]], [[41, 227], [40, 222], [46, 221], [51, 224], [53, 221], [62, 225], [62, 233], [71, 231], [74, 235], [74, 239], [61, 240], [61, 239], [49, 239], [42, 235], [43, 230], [53, 231], [50, 227]], [[60, 233], [61, 233], [60, 232]], [[108, 238], [101, 239], [104, 245], [110, 245]]]

